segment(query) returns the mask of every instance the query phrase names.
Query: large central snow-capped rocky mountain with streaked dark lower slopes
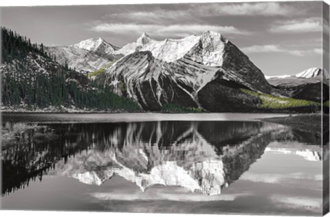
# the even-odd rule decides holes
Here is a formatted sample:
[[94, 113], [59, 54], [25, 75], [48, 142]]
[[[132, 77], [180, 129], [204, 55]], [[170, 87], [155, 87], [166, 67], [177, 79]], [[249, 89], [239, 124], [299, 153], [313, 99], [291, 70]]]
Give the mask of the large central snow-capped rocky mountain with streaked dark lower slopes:
[[245, 104], [251, 110], [258, 99], [240, 88], [276, 94], [248, 56], [217, 32], [164, 41], [142, 34], [115, 54], [126, 56], [105, 70], [104, 85], [144, 110], [160, 110], [168, 103], [212, 112], [229, 106], [234, 112]]

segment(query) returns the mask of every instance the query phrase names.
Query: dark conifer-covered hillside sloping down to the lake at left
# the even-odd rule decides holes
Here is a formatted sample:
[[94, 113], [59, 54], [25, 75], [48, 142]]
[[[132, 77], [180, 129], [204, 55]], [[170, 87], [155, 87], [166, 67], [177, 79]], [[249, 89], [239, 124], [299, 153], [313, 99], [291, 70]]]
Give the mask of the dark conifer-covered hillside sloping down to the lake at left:
[[[140, 110], [133, 101], [114, 94], [109, 87], [89, 81], [87, 76], [72, 70], [67, 63], [64, 66], [56, 63], [55, 57], [44, 52], [43, 44], [32, 44], [30, 39], [6, 28], [1, 28], [1, 37], [1, 63], [10, 65], [1, 72], [3, 105], [23, 105], [28, 109], [74, 105], [80, 109]], [[40, 64], [44, 64], [46, 73], [31, 67], [31, 59], [38, 61], [38, 56], [45, 60]]]

